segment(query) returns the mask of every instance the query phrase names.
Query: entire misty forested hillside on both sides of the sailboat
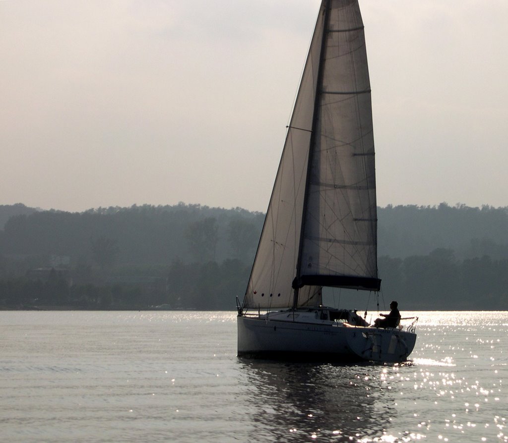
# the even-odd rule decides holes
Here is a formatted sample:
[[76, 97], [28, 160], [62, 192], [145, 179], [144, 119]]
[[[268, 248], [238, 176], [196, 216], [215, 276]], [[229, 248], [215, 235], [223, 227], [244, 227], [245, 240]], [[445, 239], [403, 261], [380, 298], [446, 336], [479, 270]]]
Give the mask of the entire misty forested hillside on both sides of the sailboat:
[[[264, 219], [184, 203], [4, 215], [0, 307], [25, 309], [234, 309]], [[378, 208], [378, 242], [383, 293], [404, 309], [506, 309], [507, 208]]]

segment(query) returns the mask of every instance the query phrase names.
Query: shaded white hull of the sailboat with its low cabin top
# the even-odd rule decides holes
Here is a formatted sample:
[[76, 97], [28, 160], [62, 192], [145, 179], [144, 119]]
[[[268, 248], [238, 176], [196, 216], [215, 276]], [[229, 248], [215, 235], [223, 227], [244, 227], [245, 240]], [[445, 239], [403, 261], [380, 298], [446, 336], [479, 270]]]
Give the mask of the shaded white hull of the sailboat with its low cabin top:
[[238, 355], [405, 361], [416, 334], [321, 319], [320, 310], [238, 316]]

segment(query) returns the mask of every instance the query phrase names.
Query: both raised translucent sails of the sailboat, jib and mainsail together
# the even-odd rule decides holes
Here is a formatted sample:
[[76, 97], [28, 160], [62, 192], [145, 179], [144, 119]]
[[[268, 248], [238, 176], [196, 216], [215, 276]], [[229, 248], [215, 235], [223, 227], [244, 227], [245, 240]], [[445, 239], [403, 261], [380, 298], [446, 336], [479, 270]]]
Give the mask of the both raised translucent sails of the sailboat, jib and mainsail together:
[[319, 305], [322, 286], [379, 290], [376, 217], [360, 8], [324, 0], [244, 307]]

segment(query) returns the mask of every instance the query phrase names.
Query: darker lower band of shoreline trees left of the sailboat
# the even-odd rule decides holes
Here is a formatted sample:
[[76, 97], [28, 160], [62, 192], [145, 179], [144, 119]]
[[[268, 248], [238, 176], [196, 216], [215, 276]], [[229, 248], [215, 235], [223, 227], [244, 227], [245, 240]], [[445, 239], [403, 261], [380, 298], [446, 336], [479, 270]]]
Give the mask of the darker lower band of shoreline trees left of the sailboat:
[[184, 264], [173, 261], [167, 276], [72, 282], [52, 269], [39, 279], [0, 279], [0, 307], [88, 310], [232, 310], [250, 267], [236, 259]]

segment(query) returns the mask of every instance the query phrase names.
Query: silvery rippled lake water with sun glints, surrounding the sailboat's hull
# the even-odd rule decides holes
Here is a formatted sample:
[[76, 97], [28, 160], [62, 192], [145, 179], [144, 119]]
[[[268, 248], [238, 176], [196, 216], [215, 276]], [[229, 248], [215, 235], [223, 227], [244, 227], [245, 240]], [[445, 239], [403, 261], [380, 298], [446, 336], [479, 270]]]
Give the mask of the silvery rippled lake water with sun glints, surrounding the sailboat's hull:
[[411, 362], [340, 366], [237, 358], [233, 312], [0, 312], [0, 439], [508, 441], [508, 312], [413, 314]]

